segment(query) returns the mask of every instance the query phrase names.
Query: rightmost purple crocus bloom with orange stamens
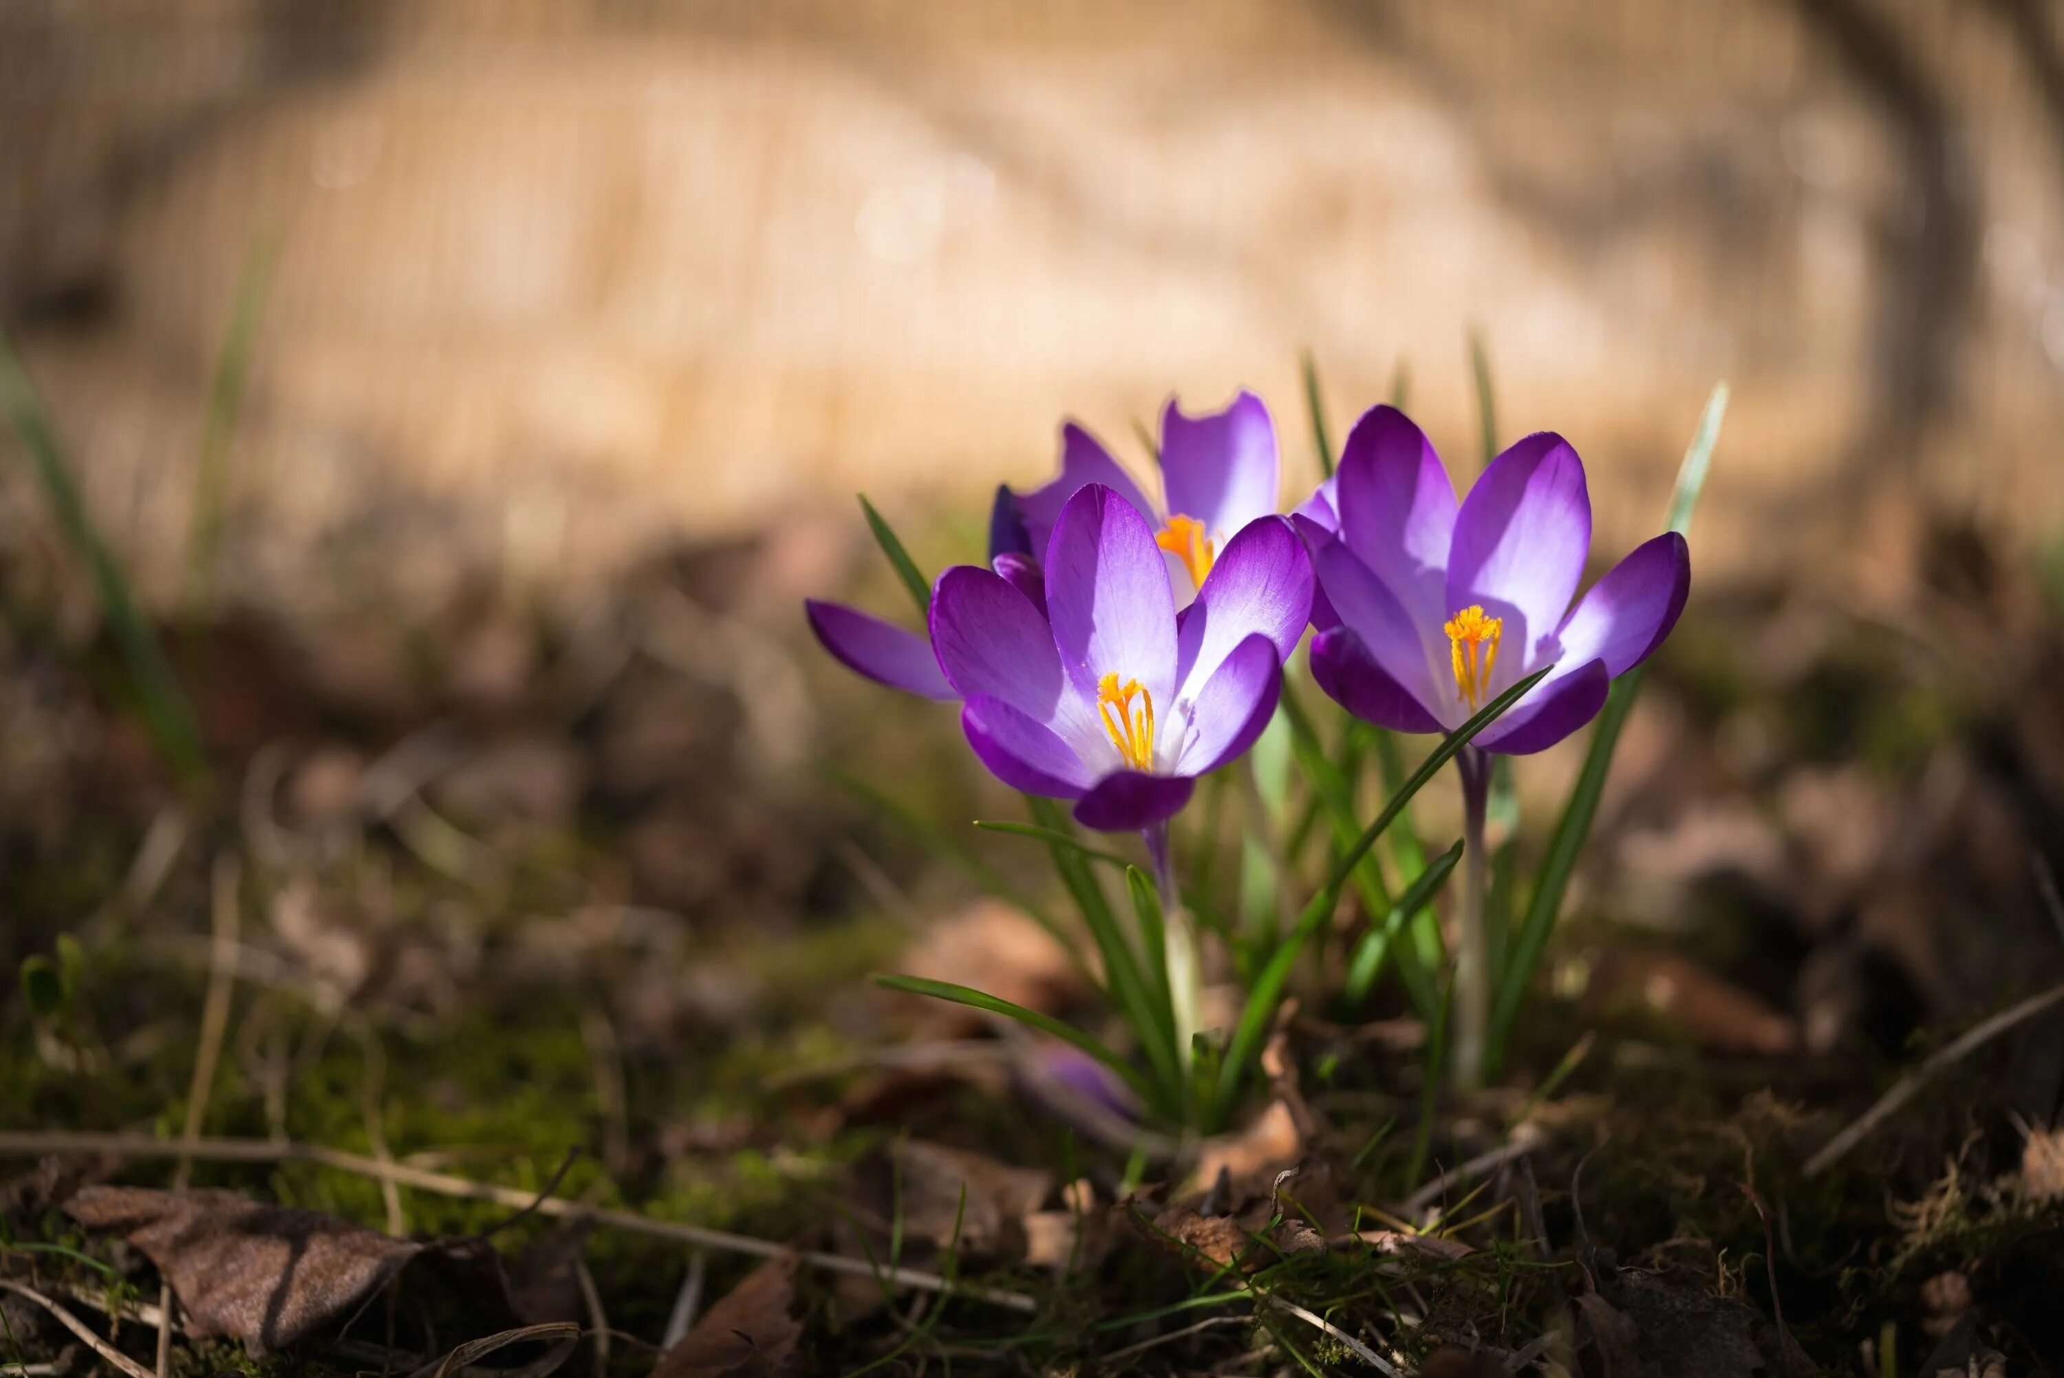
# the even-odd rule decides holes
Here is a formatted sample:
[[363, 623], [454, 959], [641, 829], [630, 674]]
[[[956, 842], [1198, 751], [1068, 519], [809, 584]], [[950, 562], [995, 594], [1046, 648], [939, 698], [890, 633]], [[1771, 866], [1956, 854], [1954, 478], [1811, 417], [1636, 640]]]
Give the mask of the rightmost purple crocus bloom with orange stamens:
[[1591, 549], [1591, 495], [1569, 441], [1538, 431], [1490, 462], [1457, 507], [1424, 431], [1393, 406], [1348, 435], [1327, 530], [1300, 510], [1335, 627], [1313, 639], [1319, 685], [1358, 718], [1447, 732], [1544, 664], [1554, 670], [1476, 747], [1509, 755], [1562, 741], [1606, 703], [1684, 609], [1690, 553], [1666, 532], [1571, 606]]

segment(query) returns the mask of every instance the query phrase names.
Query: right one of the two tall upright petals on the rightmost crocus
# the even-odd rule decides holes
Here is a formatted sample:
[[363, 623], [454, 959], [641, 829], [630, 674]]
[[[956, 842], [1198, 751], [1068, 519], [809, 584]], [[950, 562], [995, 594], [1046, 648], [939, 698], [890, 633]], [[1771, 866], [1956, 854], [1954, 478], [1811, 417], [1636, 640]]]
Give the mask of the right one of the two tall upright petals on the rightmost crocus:
[[1591, 551], [1583, 460], [1554, 431], [1517, 441], [1484, 470], [1455, 518], [1447, 613], [1482, 604], [1505, 619], [1492, 691], [1540, 664]]

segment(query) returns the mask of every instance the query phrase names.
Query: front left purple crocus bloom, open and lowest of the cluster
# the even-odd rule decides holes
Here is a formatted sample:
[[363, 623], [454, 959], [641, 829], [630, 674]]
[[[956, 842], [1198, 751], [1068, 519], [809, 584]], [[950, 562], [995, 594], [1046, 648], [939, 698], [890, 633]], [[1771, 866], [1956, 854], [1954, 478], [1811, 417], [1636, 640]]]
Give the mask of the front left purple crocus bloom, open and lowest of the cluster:
[[1249, 522], [1179, 617], [1148, 518], [1092, 483], [1044, 553], [1044, 615], [991, 569], [933, 586], [931, 644], [968, 745], [1003, 784], [1075, 800], [1086, 827], [1150, 829], [1276, 712], [1311, 617], [1304, 547], [1284, 518]]

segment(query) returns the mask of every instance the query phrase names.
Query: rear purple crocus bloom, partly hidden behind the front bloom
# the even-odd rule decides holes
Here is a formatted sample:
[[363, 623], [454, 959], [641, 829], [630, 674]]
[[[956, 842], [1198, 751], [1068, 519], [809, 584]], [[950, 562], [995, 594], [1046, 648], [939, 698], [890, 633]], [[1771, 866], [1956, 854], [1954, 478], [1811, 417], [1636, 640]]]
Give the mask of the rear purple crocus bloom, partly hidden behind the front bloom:
[[[1276, 423], [1253, 392], [1240, 392], [1218, 413], [1191, 417], [1168, 398], [1160, 433], [1162, 505], [1139, 491], [1100, 439], [1069, 421], [1061, 427], [1061, 477], [1030, 493], [997, 493], [991, 532], [1009, 532], [1015, 518], [1026, 553], [1046, 549], [1061, 507], [1084, 485], [1100, 483], [1154, 524], [1154, 543], [1168, 563], [1203, 588], [1226, 543], [1249, 522], [1276, 516], [1280, 458]], [[1009, 514], [1005, 499], [1013, 499]]]

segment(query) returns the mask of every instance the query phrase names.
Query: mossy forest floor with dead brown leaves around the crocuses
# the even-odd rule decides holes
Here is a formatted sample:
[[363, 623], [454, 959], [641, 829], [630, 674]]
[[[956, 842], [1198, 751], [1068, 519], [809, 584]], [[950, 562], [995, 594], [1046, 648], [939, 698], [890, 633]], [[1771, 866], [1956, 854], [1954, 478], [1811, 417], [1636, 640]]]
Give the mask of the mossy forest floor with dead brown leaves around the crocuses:
[[782, 559], [169, 627], [184, 786], [14, 582], [0, 1374], [2064, 1374], [2064, 580], [1703, 590], [1498, 1083], [1327, 945], [1185, 1141], [869, 982], [1108, 1021]]

